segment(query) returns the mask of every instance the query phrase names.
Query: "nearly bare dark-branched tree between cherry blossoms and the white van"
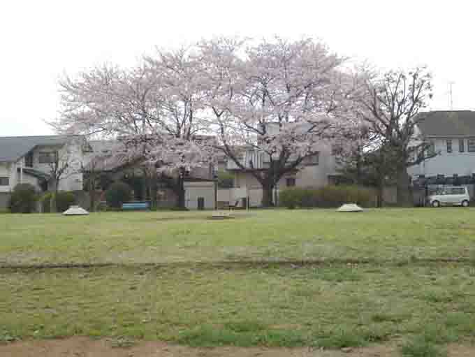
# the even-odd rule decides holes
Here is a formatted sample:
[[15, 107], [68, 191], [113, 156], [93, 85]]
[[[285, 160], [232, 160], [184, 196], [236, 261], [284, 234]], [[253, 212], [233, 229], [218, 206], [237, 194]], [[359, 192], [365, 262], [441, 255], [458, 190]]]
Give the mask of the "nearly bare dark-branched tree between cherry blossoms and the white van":
[[432, 75], [422, 68], [389, 71], [365, 78], [356, 96], [360, 112], [370, 130], [379, 138], [384, 171], [395, 173], [398, 205], [412, 205], [407, 168], [434, 156], [428, 154], [430, 143], [423, 140], [416, 126], [432, 98]]

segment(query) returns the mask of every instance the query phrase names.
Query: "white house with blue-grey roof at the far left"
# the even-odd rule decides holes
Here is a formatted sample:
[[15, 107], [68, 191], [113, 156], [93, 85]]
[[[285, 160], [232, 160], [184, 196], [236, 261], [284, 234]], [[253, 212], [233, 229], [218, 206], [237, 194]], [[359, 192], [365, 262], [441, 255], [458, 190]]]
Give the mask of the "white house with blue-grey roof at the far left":
[[51, 189], [54, 165], [67, 168], [59, 180], [59, 190], [82, 190], [82, 167], [89, 145], [83, 136], [0, 137], [0, 208], [8, 205], [10, 192], [20, 183], [36, 189]]

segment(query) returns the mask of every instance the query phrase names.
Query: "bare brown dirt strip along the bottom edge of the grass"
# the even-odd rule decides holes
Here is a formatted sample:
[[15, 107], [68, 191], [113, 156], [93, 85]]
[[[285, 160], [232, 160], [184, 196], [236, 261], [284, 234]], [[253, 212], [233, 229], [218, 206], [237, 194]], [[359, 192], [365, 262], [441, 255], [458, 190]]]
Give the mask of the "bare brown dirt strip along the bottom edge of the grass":
[[[451, 357], [475, 356], [475, 347], [451, 346]], [[112, 347], [110, 340], [71, 337], [64, 340], [29, 340], [0, 345], [2, 357], [391, 357], [396, 347], [374, 346], [351, 351], [318, 349], [269, 349], [261, 347], [191, 348], [163, 342], [138, 342], [129, 348]]]

